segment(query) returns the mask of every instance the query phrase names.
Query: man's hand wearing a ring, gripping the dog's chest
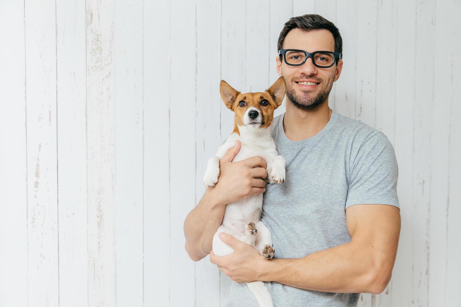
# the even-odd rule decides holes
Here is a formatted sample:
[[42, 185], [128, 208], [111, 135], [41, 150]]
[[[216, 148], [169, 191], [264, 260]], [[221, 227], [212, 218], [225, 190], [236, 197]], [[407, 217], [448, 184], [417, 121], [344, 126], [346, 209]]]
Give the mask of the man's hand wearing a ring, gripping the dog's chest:
[[[239, 162], [232, 162], [240, 150], [240, 141], [236, 141], [219, 160], [219, 179], [216, 185], [207, 188], [212, 198], [221, 204], [228, 204], [250, 195], [266, 191], [264, 178], [267, 177], [266, 160], [252, 156]], [[257, 180], [256, 178], [262, 178]], [[258, 185], [259, 184], [259, 185]]]

